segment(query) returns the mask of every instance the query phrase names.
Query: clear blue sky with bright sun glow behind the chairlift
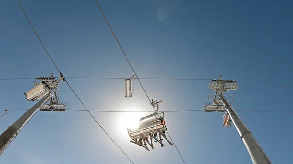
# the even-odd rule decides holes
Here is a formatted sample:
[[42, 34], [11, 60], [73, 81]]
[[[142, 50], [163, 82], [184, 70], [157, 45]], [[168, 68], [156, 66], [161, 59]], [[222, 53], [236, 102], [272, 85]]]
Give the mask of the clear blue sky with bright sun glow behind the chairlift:
[[[21, 0], [65, 77], [132, 75], [94, 0]], [[138, 77], [237, 80], [236, 110], [292, 111], [292, 0], [99, 0]], [[0, 78], [49, 76], [58, 71], [17, 0], [0, 1]], [[89, 110], [152, 111], [135, 80], [67, 79]], [[32, 79], [0, 81], [0, 109], [29, 109]], [[141, 80], [160, 110], [201, 109], [206, 81]], [[69, 109], [84, 109], [64, 83]], [[3, 112], [3, 111], [1, 111]], [[3, 112], [4, 113], [4, 112]], [[0, 132], [24, 111], [9, 111]], [[1, 114], [1, 113], [0, 113]], [[183, 164], [165, 142], [147, 152], [130, 143], [126, 121], [149, 113], [93, 113], [135, 164]], [[273, 164], [292, 164], [292, 113], [239, 112]], [[217, 112], [165, 113], [187, 164], [252, 164], [235, 127]], [[38, 112], [0, 157], [0, 164], [131, 164], [87, 112]]]

